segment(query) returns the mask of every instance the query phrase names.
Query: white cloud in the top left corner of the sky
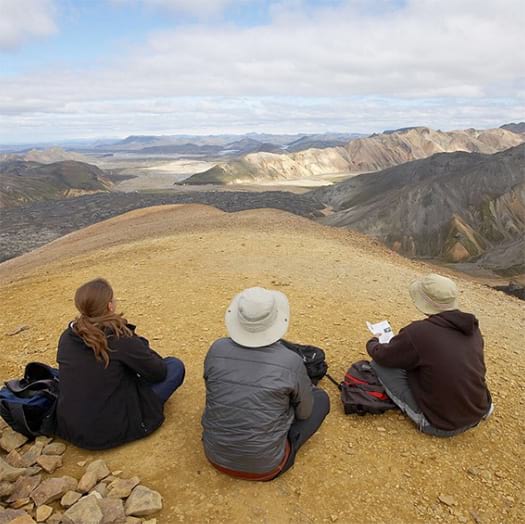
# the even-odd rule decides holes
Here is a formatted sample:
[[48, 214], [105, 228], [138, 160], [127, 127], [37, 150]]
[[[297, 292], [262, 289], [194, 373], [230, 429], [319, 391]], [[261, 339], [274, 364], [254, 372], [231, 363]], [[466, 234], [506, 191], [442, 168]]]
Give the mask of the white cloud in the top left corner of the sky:
[[56, 31], [51, 0], [0, 0], [0, 51]]

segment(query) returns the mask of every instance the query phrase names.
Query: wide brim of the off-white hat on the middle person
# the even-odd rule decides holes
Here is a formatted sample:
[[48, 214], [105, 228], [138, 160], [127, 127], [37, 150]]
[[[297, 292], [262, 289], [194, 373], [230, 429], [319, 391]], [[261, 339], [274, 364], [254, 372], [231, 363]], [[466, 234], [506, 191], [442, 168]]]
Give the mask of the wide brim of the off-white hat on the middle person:
[[274, 322], [264, 331], [253, 333], [247, 331], [239, 322], [239, 298], [241, 293], [236, 295], [224, 315], [224, 322], [228, 336], [237, 344], [249, 348], [269, 346], [280, 340], [288, 331], [290, 323], [290, 304], [284, 293], [271, 291], [275, 298], [277, 315]]

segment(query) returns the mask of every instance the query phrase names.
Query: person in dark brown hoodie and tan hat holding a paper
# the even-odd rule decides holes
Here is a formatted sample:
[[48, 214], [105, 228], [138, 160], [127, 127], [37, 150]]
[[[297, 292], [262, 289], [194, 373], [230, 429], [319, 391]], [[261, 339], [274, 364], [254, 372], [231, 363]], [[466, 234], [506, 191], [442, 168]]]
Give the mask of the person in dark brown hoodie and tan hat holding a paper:
[[478, 320], [458, 309], [456, 284], [449, 278], [429, 274], [409, 290], [427, 318], [412, 322], [388, 344], [371, 339], [366, 349], [387, 394], [421, 431], [457, 435], [493, 409]]

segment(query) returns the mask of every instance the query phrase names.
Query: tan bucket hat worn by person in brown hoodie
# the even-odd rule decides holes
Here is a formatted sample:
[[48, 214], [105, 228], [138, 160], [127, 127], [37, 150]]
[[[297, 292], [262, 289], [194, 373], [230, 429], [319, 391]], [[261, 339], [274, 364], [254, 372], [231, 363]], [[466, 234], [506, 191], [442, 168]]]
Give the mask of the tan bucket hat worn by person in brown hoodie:
[[425, 315], [458, 309], [458, 288], [450, 278], [429, 273], [410, 284], [410, 296]]

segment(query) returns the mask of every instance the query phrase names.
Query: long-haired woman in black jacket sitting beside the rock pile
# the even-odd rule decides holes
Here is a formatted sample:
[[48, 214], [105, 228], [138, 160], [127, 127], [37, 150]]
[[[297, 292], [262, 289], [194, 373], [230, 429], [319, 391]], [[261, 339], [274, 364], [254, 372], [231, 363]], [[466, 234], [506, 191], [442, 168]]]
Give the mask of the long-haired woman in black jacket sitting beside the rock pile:
[[97, 278], [79, 287], [80, 315], [58, 343], [57, 434], [78, 447], [107, 449], [145, 437], [184, 380], [184, 364], [162, 358], [116, 313], [113, 290]]

